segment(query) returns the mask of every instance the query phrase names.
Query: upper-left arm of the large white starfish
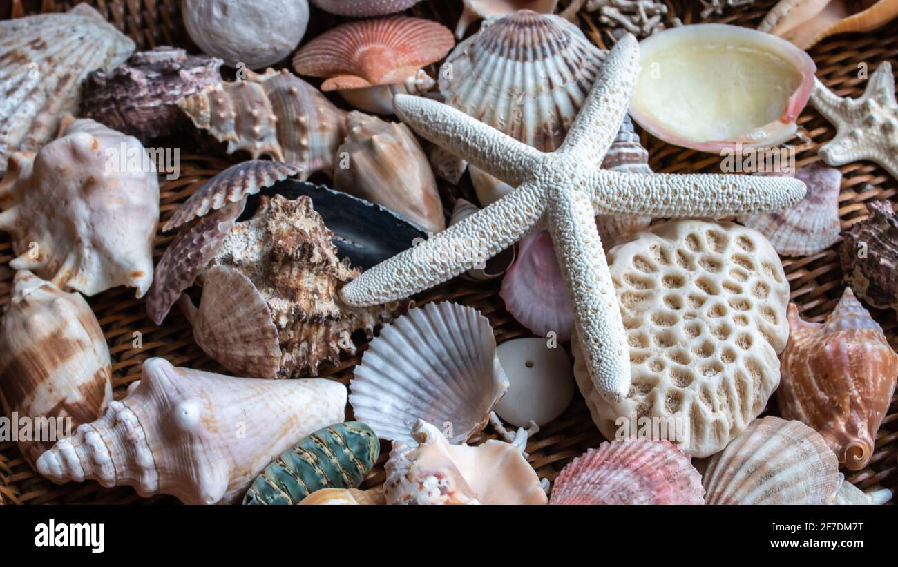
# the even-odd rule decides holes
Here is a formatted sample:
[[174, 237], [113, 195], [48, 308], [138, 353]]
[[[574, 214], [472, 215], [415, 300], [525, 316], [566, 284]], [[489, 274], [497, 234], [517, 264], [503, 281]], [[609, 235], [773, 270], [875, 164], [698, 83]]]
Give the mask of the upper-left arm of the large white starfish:
[[393, 108], [422, 137], [512, 187], [533, 177], [542, 159], [539, 150], [442, 102], [398, 94]]

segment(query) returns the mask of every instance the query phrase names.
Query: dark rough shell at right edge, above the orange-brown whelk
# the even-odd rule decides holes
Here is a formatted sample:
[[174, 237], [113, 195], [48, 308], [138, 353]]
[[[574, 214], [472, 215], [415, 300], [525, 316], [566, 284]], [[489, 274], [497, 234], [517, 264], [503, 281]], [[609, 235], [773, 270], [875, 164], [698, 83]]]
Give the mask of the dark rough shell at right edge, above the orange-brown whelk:
[[876, 309], [898, 312], [898, 214], [888, 201], [867, 203], [870, 216], [842, 233], [845, 283]]

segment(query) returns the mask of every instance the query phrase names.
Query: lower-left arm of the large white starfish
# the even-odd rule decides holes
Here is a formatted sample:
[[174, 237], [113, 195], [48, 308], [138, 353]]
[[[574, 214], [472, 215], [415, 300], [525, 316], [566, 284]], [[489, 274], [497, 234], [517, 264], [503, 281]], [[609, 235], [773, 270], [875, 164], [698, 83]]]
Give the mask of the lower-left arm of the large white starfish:
[[374, 266], [341, 291], [349, 305], [396, 301], [442, 284], [496, 256], [533, 229], [543, 191], [524, 183], [482, 211]]

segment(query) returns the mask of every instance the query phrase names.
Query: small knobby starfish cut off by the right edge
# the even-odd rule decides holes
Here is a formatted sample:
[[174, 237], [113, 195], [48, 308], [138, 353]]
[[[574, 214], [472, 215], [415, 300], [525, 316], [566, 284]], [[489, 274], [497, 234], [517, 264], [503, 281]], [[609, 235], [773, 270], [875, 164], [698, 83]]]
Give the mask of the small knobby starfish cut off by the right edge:
[[898, 103], [892, 64], [881, 63], [859, 99], [841, 98], [814, 79], [811, 102], [836, 126], [836, 137], [818, 152], [829, 165], [869, 160], [898, 179]]

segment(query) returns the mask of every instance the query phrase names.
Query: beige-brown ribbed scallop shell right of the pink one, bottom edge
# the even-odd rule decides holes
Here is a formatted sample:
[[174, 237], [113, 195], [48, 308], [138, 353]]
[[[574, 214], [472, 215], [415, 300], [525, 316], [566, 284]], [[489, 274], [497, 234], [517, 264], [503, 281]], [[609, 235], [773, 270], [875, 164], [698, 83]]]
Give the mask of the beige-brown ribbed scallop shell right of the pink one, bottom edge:
[[768, 416], [710, 458], [701, 483], [709, 504], [830, 504], [841, 481], [818, 432]]

